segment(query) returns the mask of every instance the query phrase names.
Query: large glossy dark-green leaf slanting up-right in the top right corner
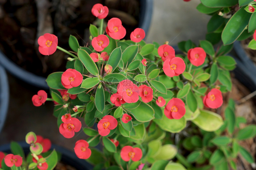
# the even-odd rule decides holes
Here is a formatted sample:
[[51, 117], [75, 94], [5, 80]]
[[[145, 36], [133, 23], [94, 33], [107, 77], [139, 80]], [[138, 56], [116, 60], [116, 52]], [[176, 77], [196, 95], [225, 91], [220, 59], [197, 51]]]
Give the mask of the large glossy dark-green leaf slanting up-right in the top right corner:
[[230, 18], [221, 34], [224, 45], [233, 43], [242, 34], [250, 17], [251, 14], [242, 7]]

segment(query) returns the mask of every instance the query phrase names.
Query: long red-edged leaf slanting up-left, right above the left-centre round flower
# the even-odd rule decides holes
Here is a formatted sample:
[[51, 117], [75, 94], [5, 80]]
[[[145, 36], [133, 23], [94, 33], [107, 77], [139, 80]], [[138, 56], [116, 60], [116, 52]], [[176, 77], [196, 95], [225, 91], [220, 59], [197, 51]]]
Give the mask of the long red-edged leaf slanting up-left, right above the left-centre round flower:
[[85, 50], [78, 50], [78, 58], [82, 63], [84, 64], [85, 68], [90, 72], [92, 75], [97, 76], [99, 75], [99, 70], [94, 63], [93, 59], [90, 57], [90, 55]]

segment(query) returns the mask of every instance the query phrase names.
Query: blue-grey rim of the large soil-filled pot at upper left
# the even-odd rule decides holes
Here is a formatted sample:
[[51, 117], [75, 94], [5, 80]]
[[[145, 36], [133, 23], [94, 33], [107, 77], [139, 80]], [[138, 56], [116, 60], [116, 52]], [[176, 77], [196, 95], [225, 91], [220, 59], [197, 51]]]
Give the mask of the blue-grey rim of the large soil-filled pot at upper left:
[[[153, 0], [141, 0], [139, 28], [147, 34], [151, 23]], [[38, 76], [18, 66], [0, 51], [0, 65], [2, 65], [13, 76], [38, 88], [49, 89], [46, 77]]]

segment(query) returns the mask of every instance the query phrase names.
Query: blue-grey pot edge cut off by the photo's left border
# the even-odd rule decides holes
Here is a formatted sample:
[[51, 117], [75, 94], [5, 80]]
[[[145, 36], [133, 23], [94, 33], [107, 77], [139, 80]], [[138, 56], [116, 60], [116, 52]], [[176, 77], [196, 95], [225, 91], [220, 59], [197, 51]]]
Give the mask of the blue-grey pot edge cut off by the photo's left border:
[[9, 84], [7, 74], [0, 66], [0, 134], [4, 126], [9, 104]]

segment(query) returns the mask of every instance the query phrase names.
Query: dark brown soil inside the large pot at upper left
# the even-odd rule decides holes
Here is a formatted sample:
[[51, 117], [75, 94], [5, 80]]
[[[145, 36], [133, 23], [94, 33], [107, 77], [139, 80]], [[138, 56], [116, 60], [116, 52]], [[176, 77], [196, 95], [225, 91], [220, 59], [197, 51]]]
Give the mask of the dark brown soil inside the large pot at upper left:
[[109, 8], [104, 21], [121, 19], [127, 30], [126, 39], [138, 28], [139, 0], [0, 0], [0, 50], [22, 68], [40, 76], [65, 71], [69, 56], [60, 50], [50, 56], [41, 55], [37, 39], [51, 33], [58, 37], [60, 47], [71, 50], [71, 34], [81, 46], [87, 45], [90, 24], [99, 23], [91, 14], [96, 3]]

